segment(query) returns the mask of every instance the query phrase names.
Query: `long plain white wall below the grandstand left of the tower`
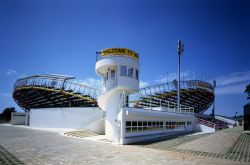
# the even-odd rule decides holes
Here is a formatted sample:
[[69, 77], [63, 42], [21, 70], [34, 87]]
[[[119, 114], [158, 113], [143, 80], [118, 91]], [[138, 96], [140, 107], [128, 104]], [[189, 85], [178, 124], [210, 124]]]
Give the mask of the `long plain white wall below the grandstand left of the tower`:
[[105, 112], [96, 107], [40, 108], [30, 110], [30, 126], [87, 129], [104, 134]]

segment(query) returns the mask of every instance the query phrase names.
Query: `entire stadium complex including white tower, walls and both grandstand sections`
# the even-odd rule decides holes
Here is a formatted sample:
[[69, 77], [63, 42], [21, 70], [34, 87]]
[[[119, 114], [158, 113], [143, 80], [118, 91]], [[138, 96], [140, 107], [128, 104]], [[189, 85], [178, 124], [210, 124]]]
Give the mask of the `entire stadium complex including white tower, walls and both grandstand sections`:
[[[105, 133], [108, 140], [118, 144], [198, 130], [215, 131], [214, 123], [197, 117], [214, 101], [214, 86], [210, 83], [181, 81], [178, 109], [176, 80], [139, 89], [140, 61], [136, 52], [108, 48], [97, 52], [96, 57], [95, 70], [102, 78], [102, 90], [66, 75], [18, 79], [13, 99], [27, 116], [13, 114], [12, 123], [85, 129]], [[207, 127], [200, 126], [204, 124]]]

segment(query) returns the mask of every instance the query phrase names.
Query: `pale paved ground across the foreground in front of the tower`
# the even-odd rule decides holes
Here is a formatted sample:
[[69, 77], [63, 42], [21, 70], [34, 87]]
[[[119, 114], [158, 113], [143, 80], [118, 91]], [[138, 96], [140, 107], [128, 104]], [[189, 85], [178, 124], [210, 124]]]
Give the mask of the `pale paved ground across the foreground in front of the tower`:
[[[249, 164], [156, 150], [135, 145], [114, 145], [70, 138], [56, 132], [0, 125], [0, 164]], [[7, 152], [6, 152], [7, 151]], [[9, 160], [3, 160], [9, 157]], [[11, 163], [11, 160], [13, 159]]]

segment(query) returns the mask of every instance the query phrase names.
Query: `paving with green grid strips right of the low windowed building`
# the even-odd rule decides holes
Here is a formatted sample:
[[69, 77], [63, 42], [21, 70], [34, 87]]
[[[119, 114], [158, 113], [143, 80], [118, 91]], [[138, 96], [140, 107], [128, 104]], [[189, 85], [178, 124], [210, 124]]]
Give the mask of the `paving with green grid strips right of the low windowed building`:
[[180, 136], [140, 144], [147, 148], [191, 155], [250, 162], [250, 135], [242, 127], [225, 129], [208, 135]]

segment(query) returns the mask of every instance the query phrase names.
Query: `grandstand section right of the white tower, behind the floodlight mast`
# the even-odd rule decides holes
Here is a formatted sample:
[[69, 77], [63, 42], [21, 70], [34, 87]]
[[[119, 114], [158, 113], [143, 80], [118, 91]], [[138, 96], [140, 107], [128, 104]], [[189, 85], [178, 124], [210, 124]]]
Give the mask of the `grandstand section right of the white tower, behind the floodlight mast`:
[[[181, 81], [181, 106], [205, 112], [214, 101], [214, 86], [200, 80]], [[172, 107], [177, 109], [177, 81], [140, 89], [139, 107]]]

